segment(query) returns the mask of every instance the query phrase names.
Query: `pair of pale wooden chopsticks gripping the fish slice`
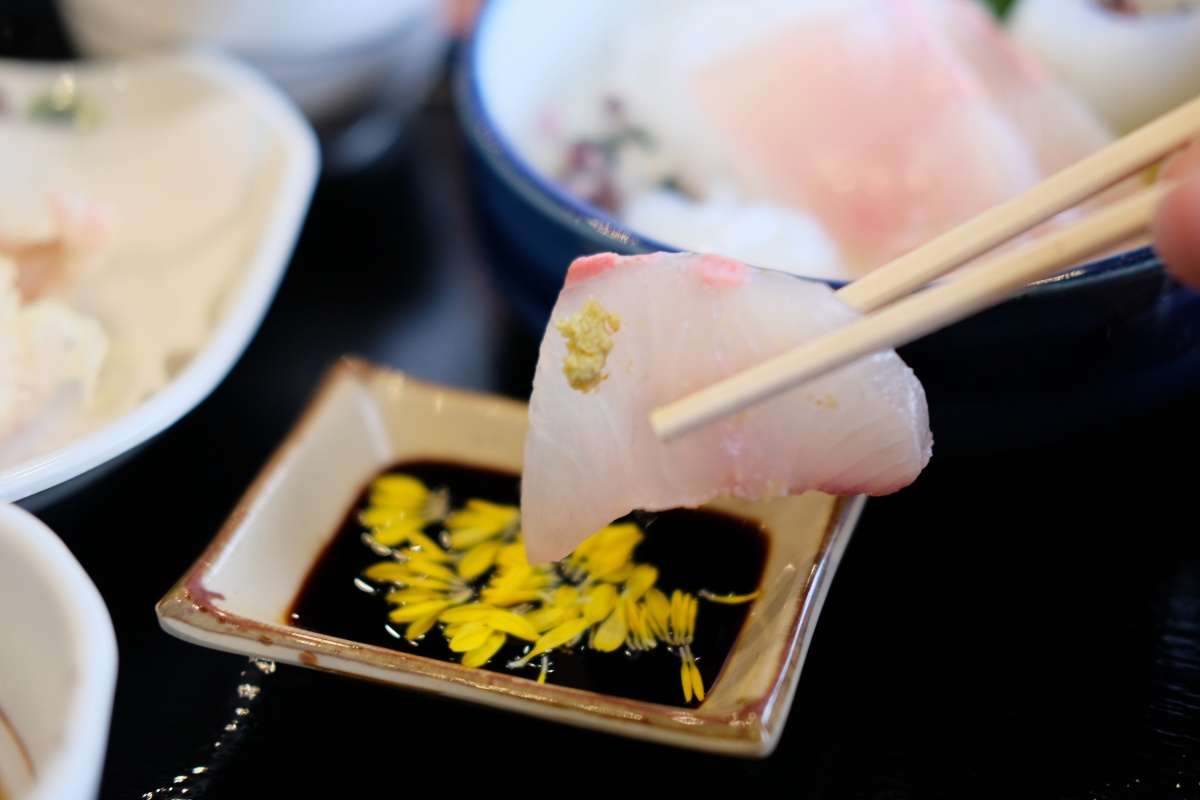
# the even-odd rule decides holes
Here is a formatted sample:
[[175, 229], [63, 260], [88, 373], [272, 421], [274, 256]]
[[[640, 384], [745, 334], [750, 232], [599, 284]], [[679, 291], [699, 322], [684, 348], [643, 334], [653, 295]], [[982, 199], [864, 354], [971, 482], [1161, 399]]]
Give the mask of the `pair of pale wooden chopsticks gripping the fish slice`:
[[994, 306], [1028, 283], [1144, 231], [1163, 194], [1159, 182], [1090, 217], [1001, 253], [953, 281], [910, 294], [1139, 170], [1200, 132], [1200, 97], [1056, 173], [988, 211], [845, 285], [839, 296], [864, 317], [650, 413], [662, 441], [677, 439], [856, 359], [896, 348]]

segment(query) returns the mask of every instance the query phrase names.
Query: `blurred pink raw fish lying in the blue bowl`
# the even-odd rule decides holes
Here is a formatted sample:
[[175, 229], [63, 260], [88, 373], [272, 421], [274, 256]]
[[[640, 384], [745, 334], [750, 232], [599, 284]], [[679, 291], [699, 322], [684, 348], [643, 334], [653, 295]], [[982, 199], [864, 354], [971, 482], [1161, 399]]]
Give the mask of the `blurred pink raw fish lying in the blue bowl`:
[[[726, 150], [742, 154], [743, 184], [815, 213], [852, 275], [1108, 140], [1078, 124], [1078, 104], [1044, 102], [1045, 78], [1016, 68], [998, 28], [959, 8], [970, 1], [827, 5], [696, 71], [696, 103]], [[1009, 73], [985, 78], [977, 66]]]

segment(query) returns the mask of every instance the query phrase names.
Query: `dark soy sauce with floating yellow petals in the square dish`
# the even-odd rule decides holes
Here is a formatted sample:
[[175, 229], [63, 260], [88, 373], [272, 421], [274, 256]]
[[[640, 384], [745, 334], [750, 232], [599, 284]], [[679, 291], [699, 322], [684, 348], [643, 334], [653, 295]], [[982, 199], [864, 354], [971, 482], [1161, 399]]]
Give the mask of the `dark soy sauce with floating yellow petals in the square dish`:
[[[593, 547], [590, 561], [569, 558], [558, 565], [535, 567], [528, 581], [536, 583], [544, 577], [546, 584], [520, 597], [511, 593], [497, 594], [503, 571], [509, 569], [504, 566], [504, 554], [498, 555], [499, 564], [493, 563], [478, 577], [451, 576], [450, 588], [444, 588], [446, 582], [440, 578], [428, 578], [413, 566], [414, 561], [403, 563], [414, 552], [440, 551], [433, 553], [439, 559], [446, 554], [458, 559], [449, 563], [451, 570], [457, 565], [469, 573], [478, 566], [467, 567], [464, 563], [469, 558], [478, 563], [481, 553], [466, 557], [467, 549], [480, 546], [481, 551], [499, 551], [509, 546], [504, 552], [511, 554], [511, 546], [520, 535], [518, 481], [515, 474], [439, 461], [407, 462], [384, 470], [362, 489], [337, 535], [314, 563], [293, 603], [290, 624], [354, 642], [475, 666], [468, 661], [470, 654], [462, 651], [462, 640], [458, 651], [451, 649], [446, 633], [458, 630], [456, 622], [431, 624], [428, 619], [415, 621], [412, 618], [421, 616], [422, 609], [451, 619], [457, 619], [454, 614], [470, 616], [474, 609], [481, 608], [482, 601], [487, 607], [499, 607], [534, 622], [541, 643], [545, 643], [541, 637], [553, 637], [556, 632], [580, 630], [580, 633], [569, 643], [533, 657], [529, 650], [538, 645], [528, 633], [524, 638], [506, 634], [480, 668], [643, 702], [698, 706], [716, 682], [756, 595], [767, 555], [767, 537], [761, 524], [710, 510], [679, 509], [631, 516], [605, 529], [601, 536], [607, 536], [605, 541], [612, 543]], [[404, 504], [410, 504], [407, 513], [392, 513]], [[424, 524], [412, 522], [413, 513], [424, 515], [420, 521]], [[391, 519], [392, 525], [407, 524], [408, 529], [418, 530], [415, 542], [413, 539], [398, 540], [396, 528], [380, 525], [384, 518]], [[491, 539], [485, 535], [488, 525], [498, 529]], [[613, 572], [610, 561], [624, 553], [620, 548], [632, 541], [629, 537], [637, 543], [620, 559], [628, 564]], [[470, 547], [451, 546], [461, 541], [468, 541]], [[587, 547], [581, 546], [572, 558]], [[523, 553], [523, 548], [517, 551]], [[422, 557], [416, 558], [421, 560]], [[610, 570], [606, 573], [610, 579], [589, 572], [588, 565]], [[430, 569], [445, 577], [436, 565]], [[623, 575], [625, 579], [613, 579]], [[653, 576], [649, 590], [644, 589], [648, 576]], [[512, 583], [511, 578], [508, 583]], [[612, 584], [612, 589], [598, 590], [601, 583]], [[409, 591], [413, 601], [398, 602], [396, 599], [404, 594], [398, 590], [412, 590], [412, 584], [433, 588], [416, 594]], [[661, 593], [656, 604], [652, 599], [654, 589]], [[564, 619], [571, 613], [577, 619], [578, 612], [570, 609], [587, 607], [593, 600], [600, 608], [600, 594], [607, 591], [619, 596], [624, 590], [642, 591], [642, 602], [640, 606], [634, 603], [636, 608], [625, 606], [629, 609], [626, 630], [619, 646], [611, 651], [602, 651], [596, 643], [598, 639], [601, 644], [607, 640], [611, 646], [614, 631], [622, 633], [619, 620], [614, 620], [606, 628], [607, 639], [601, 634], [600, 628], [612, 613], [586, 628], [580, 621], [568, 620], [562, 622], [564, 627], [552, 624], [559, 612], [565, 614]], [[664, 599], [671, 614], [664, 610]], [[426, 606], [419, 606], [422, 602]], [[428, 604], [431, 602], [434, 604]], [[473, 608], [466, 608], [473, 603]], [[650, 607], [658, 609], [658, 626], [653, 619], [647, 619], [653, 616]], [[638, 613], [642, 614], [638, 616], [641, 624], [634, 620]], [[508, 622], [502, 627], [512, 624], [511, 618], [505, 615], [504, 619]], [[684, 619], [694, 624], [689, 626]], [[414, 632], [409, 628], [414, 624], [422, 626], [424, 633], [419, 637], [407, 636]], [[458, 622], [458, 627], [463, 624]], [[476, 639], [486, 639], [482, 631], [476, 630]], [[474, 655], [481, 657], [486, 649]], [[694, 680], [698, 681], [691, 686], [686, 685], [689, 662], [695, 670]]]

